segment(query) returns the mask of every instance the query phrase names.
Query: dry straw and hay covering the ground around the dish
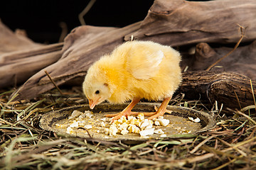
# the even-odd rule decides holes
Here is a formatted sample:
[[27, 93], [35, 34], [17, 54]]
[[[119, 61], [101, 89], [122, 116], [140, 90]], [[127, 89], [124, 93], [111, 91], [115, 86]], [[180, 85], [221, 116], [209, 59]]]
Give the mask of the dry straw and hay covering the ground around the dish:
[[[1, 169], [255, 169], [255, 106], [224, 111], [204, 101], [174, 97], [171, 105], [212, 114], [215, 129], [169, 140], [122, 142], [61, 137], [42, 130], [41, 115], [85, 103], [80, 88], [42, 94], [33, 101], [11, 101], [0, 92]], [[230, 115], [227, 116], [226, 113]], [[245, 113], [245, 114], [244, 114]]]

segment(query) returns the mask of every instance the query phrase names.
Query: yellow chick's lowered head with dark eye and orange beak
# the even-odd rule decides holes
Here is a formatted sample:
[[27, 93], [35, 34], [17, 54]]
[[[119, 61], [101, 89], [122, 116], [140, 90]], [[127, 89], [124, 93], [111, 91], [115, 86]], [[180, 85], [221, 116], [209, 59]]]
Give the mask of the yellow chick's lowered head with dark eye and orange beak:
[[97, 67], [88, 69], [85, 81], [82, 84], [82, 90], [88, 98], [91, 109], [112, 95], [105, 73]]

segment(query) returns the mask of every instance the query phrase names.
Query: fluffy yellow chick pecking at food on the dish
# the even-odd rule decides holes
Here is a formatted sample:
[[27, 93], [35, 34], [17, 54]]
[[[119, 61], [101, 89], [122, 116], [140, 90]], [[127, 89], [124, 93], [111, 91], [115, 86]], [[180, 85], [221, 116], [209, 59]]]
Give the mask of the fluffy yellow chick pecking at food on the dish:
[[132, 108], [140, 99], [164, 100], [156, 113], [145, 113], [154, 119], [167, 112], [166, 106], [181, 84], [181, 55], [172, 47], [151, 41], [125, 42], [92, 64], [82, 89], [90, 108], [110, 101], [124, 103], [132, 100], [121, 113], [106, 115], [113, 120], [137, 114]]

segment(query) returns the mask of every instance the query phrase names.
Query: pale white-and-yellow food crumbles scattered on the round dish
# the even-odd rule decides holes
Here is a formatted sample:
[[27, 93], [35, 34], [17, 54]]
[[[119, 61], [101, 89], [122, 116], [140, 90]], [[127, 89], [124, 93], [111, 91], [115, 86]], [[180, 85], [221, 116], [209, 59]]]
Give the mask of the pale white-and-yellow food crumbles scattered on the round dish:
[[[90, 130], [92, 129], [92, 125], [87, 125], [87, 123], [92, 123], [90, 120], [92, 116], [93, 114], [91, 111], [85, 111], [85, 113], [82, 113], [80, 111], [73, 111], [72, 115], [69, 118], [73, 120], [70, 120], [68, 122], [68, 125], [56, 124], [56, 126], [64, 128], [68, 127], [66, 129], [66, 132], [68, 134], [75, 133], [75, 130], [77, 130], [79, 127]], [[160, 137], [166, 137], [163, 130], [159, 128], [155, 130], [155, 128], [153, 128], [153, 125], [169, 125], [169, 120], [164, 119], [163, 116], [159, 116], [159, 118], [155, 118], [154, 120], [148, 120], [144, 118], [143, 113], [139, 113], [139, 115], [137, 116], [129, 115], [127, 117], [122, 115], [121, 118], [119, 118], [118, 120], [114, 120], [113, 123], [109, 123], [109, 121], [111, 120], [110, 118], [101, 118], [100, 120], [102, 121], [99, 121], [97, 125], [100, 125], [100, 127], [104, 128], [103, 130], [105, 130], [105, 134], [110, 136], [116, 136], [117, 134], [126, 135], [128, 133], [136, 133], [139, 134], [141, 137], [149, 138], [149, 135], [153, 135], [155, 133], [159, 134]], [[96, 129], [96, 132], [100, 133], [102, 131]]]

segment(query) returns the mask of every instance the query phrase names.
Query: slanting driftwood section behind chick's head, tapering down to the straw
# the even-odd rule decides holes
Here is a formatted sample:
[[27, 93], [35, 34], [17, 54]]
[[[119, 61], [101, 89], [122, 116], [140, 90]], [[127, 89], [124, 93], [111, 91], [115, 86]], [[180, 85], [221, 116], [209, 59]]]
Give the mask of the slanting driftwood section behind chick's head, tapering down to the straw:
[[124, 28], [98, 28], [93, 26], [75, 28], [65, 38], [61, 59], [28, 79], [18, 89], [20, 96], [17, 99], [31, 99], [54, 88], [46, 76], [45, 70], [58, 85], [75, 78], [84, 79], [87, 69], [93, 62], [105, 53], [111, 52], [114, 47], [123, 42], [124, 35], [132, 33], [138, 28], [139, 23]]

